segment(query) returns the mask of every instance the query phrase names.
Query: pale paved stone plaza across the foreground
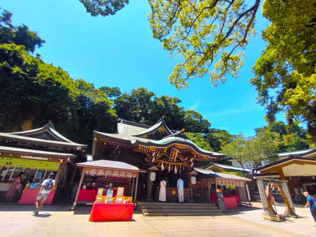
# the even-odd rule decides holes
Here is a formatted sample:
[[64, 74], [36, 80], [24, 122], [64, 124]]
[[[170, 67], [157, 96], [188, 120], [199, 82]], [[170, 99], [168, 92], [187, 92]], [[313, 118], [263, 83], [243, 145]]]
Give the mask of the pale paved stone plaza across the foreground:
[[[282, 210], [282, 206], [278, 209]], [[21, 208], [20, 208], [21, 209]], [[239, 208], [226, 216], [144, 217], [134, 214], [131, 222], [89, 222], [89, 210], [81, 207], [74, 212], [46, 208], [32, 216], [30, 208], [2, 208], [0, 237], [152, 237], [152, 236], [269, 236], [316, 237], [316, 227], [308, 209], [298, 208], [301, 222], [272, 222], [261, 218], [259, 208]], [[3, 211], [4, 210], [4, 211]], [[62, 210], [62, 211], [61, 211]]]

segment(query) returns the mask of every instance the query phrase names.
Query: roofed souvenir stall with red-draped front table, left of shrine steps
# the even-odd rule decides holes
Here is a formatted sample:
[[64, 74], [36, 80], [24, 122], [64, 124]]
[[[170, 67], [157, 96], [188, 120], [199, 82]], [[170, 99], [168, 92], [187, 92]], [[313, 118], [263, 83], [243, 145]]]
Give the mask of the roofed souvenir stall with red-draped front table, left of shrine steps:
[[131, 221], [134, 184], [136, 200], [138, 174], [146, 171], [119, 161], [87, 161], [76, 165], [82, 167], [82, 175], [73, 209], [77, 203], [93, 203], [91, 222]]

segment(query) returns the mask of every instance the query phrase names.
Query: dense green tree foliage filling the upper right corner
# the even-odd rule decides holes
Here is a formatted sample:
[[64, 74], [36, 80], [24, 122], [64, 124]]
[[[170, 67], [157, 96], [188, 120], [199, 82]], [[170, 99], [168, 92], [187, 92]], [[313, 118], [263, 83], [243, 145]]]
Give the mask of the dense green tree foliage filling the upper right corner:
[[[257, 59], [250, 83], [266, 119], [285, 112], [288, 124], [307, 124], [310, 142], [316, 142], [316, 7], [312, 0], [265, 0], [263, 15], [271, 24], [262, 38], [268, 45]], [[290, 134], [291, 135], [291, 134]]]

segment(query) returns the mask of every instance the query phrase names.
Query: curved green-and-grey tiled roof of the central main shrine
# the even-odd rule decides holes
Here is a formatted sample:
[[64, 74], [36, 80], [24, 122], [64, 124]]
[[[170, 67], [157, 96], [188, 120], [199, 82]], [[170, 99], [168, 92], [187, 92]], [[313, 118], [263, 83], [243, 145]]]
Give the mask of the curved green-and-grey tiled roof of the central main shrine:
[[214, 161], [225, 157], [225, 154], [197, 146], [185, 135], [184, 129], [170, 130], [163, 117], [153, 126], [121, 120], [116, 134], [94, 131], [92, 155], [101, 156], [103, 152], [110, 151], [111, 149], [106, 149], [108, 145], [133, 149], [149, 156], [161, 152], [168, 153], [171, 148], [175, 148], [184, 159], [191, 157], [193, 160]]

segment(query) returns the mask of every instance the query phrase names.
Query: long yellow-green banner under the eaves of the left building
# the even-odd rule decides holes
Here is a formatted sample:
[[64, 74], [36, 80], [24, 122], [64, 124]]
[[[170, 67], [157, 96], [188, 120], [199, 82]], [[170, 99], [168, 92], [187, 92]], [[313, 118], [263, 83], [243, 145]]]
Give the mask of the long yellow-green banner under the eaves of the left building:
[[0, 166], [21, 167], [30, 169], [58, 170], [59, 163], [0, 156]]

